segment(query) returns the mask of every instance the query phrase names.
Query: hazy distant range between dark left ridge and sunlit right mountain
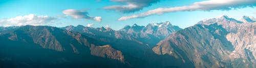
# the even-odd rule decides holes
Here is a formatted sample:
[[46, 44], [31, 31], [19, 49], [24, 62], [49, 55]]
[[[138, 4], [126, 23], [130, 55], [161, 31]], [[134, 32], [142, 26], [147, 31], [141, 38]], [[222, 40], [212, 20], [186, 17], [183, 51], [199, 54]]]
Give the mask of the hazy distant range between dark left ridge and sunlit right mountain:
[[135, 41], [147, 45], [148, 47], [155, 46], [156, 43], [172, 34], [172, 32], [181, 30], [181, 28], [170, 24], [168, 21], [151, 23], [147, 26], [139, 26], [137, 24], [132, 26], [126, 25], [120, 30], [113, 30], [111, 28], [105, 29], [104, 27], [92, 28], [82, 25], [77, 25], [76, 27], [71, 25], [62, 27], [61, 29], [86, 33], [96, 37]]

